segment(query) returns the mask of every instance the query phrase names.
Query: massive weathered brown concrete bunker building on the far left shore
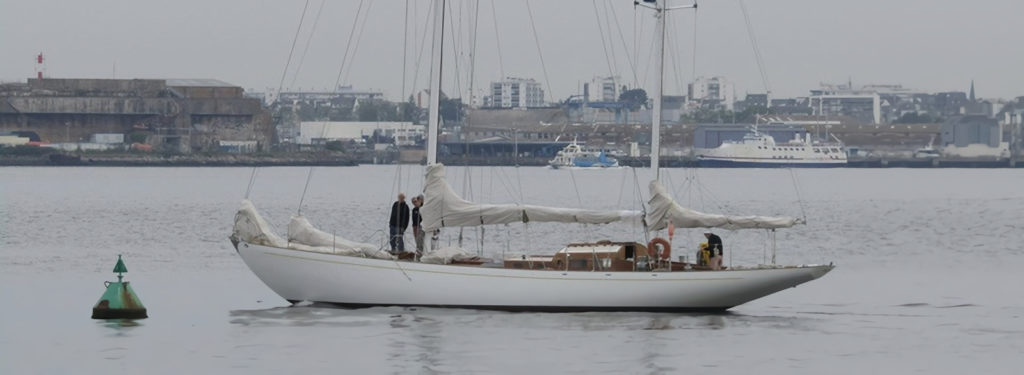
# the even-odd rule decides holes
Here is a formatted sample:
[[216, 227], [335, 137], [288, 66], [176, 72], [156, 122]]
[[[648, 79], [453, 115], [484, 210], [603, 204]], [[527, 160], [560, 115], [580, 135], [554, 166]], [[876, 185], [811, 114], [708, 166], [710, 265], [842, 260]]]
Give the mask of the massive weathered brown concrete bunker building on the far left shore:
[[89, 140], [122, 139], [177, 153], [216, 151], [220, 141], [234, 140], [266, 150], [273, 137], [270, 114], [258, 99], [213, 79], [31, 78], [3, 84], [0, 132], [32, 132], [41, 142], [77, 149], [95, 143]]

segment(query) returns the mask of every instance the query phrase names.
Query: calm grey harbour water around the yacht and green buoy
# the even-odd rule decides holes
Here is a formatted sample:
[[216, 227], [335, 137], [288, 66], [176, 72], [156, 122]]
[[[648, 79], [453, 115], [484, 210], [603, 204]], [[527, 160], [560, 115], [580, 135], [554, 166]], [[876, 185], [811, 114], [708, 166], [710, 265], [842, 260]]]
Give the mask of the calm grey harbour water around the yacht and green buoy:
[[[226, 240], [252, 171], [0, 168], [0, 374], [1018, 374], [1024, 365], [1024, 170], [669, 170], [663, 180], [697, 209], [806, 214], [808, 225], [779, 234], [779, 262], [839, 264], [726, 315], [286, 307]], [[258, 170], [251, 198], [279, 232], [308, 172]], [[421, 190], [421, 173], [314, 169], [303, 213], [379, 242], [392, 197]], [[649, 178], [449, 169], [476, 201], [570, 207], [638, 208]], [[456, 241], [450, 232], [442, 241]], [[678, 231], [677, 246], [692, 248], [698, 232]], [[763, 233], [720, 234], [727, 261], [765, 259]], [[487, 227], [482, 247], [477, 231], [465, 236], [467, 249], [501, 256], [640, 235], [535, 223]], [[117, 254], [150, 319], [89, 319]]]

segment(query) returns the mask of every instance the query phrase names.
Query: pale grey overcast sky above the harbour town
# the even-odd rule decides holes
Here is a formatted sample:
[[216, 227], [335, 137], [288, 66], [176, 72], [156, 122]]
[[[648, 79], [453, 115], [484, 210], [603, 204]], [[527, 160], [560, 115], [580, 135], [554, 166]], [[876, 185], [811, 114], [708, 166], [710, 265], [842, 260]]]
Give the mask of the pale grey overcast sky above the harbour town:
[[[360, 2], [328, 0], [313, 31], [321, 3], [308, 2], [286, 90], [328, 89], [338, 78]], [[364, 1], [367, 15], [360, 20], [367, 20], [366, 27], [361, 33], [356, 29], [353, 40], [359, 43], [355, 48], [353, 42], [354, 54], [349, 52], [353, 57], [343, 71], [342, 84], [397, 98], [403, 92], [404, 71], [407, 95], [414, 87], [425, 88], [429, 45], [422, 56], [419, 46], [429, 43], [423, 36], [430, 2], [408, 3], [407, 30], [407, 1]], [[634, 77], [641, 87], [651, 85], [653, 18], [646, 9], [634, 10], [631, 0], [530, 1], [541, 53], [525, 1], [450, 3], [450, 27], [457, 32], [445, 38], [446, 53], [453, 55], [445, 57], [445, 91], [468, 88], [472, 5], [477, 3], [475, 87], [503, 73], [537, 79], [548, 97], [557, 99], [609, 72], [629, 85]], [[305, 0], [0, 0], [0, 81], [24, 82], [35, 76], [34, 57], [43, 52], [46, 74], [54, 78], [214, 78], [246, 89], [275, 90], [305, 4]], [[745, 4], [776, 96], [806, 95], [819, 82], [848, 79], [854, 85], [902, 84], [929, 92], [966, 91], [973, 79], [980, 97], [1024, 95], [1021, 0], [745, 0]], [[763, 92], [743, 19], [739, 0], [702, 1], [695, 18], [691, 10], [674, 11], [666, 93], [681, 92], [681, 83], [690, 81], [694, 72], [727, 77], [739, 97]], [[410, 35], [406, 70], [403, 32]], [[606, 57], [602, 43], [613, 58]], [[630, 62], [633, 58], [635, 64]]]

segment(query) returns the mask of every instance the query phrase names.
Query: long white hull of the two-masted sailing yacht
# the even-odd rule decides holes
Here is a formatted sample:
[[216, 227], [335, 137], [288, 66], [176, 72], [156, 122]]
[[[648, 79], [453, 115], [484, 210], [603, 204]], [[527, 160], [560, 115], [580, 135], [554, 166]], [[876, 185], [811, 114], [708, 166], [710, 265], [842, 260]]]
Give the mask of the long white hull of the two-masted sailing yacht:
[[555, 272], [427, 264], [239, 243], [285, 299], [351, 307], [505, 310], [724, 310], [820, 278], [833, 265], [718, 272]]

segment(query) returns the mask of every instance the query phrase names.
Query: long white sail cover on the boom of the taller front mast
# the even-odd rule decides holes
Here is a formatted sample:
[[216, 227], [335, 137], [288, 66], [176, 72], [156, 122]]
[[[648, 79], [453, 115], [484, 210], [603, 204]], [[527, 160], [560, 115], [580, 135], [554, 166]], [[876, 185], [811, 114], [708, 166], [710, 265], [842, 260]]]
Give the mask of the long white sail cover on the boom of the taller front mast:
[[554, 221], [603, 224], [636, 219], [636, 211], [583, 210], [520, 204], [478, 204], [462, 199], [444, 180], [444, 166], [427, 166], [424, 203], [420, 209], [423, 230], [475, 226], [509, 222]]

